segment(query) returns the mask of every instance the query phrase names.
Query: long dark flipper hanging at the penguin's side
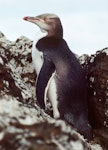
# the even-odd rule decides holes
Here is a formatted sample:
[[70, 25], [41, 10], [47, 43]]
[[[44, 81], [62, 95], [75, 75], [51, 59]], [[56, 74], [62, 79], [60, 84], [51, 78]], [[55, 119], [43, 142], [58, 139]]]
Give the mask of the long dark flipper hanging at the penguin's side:
[[42, 109], [45, 109], [44, 103], [45, 88], [54, 71], [55, 71], [54, 64], [49, 59], [44, 57], [44, 63], [36, 83], [37, 101]]

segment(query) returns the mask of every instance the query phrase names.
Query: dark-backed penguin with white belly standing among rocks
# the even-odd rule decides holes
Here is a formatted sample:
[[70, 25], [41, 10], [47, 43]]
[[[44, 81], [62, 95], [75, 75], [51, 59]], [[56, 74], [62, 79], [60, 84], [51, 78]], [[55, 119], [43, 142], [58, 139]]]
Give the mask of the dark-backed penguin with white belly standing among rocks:
[[45, 110], [49, 99], [54, 118], [65, 120], [86, 139], [92, 139], [84, 70], [63, 38], [60, 18], [46, 13], [23, 19], [40, 29], [32, 49], [37, 74], [36, 97], [40, 107]]

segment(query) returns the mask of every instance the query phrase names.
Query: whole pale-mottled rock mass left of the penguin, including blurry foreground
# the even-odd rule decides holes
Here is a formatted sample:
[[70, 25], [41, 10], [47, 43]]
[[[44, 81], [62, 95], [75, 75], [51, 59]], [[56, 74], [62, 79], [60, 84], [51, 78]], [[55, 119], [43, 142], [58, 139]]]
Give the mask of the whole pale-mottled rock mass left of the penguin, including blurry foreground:
[[0, 149], [102, 150], [36, 104], [32, 41], [0, 33]]

